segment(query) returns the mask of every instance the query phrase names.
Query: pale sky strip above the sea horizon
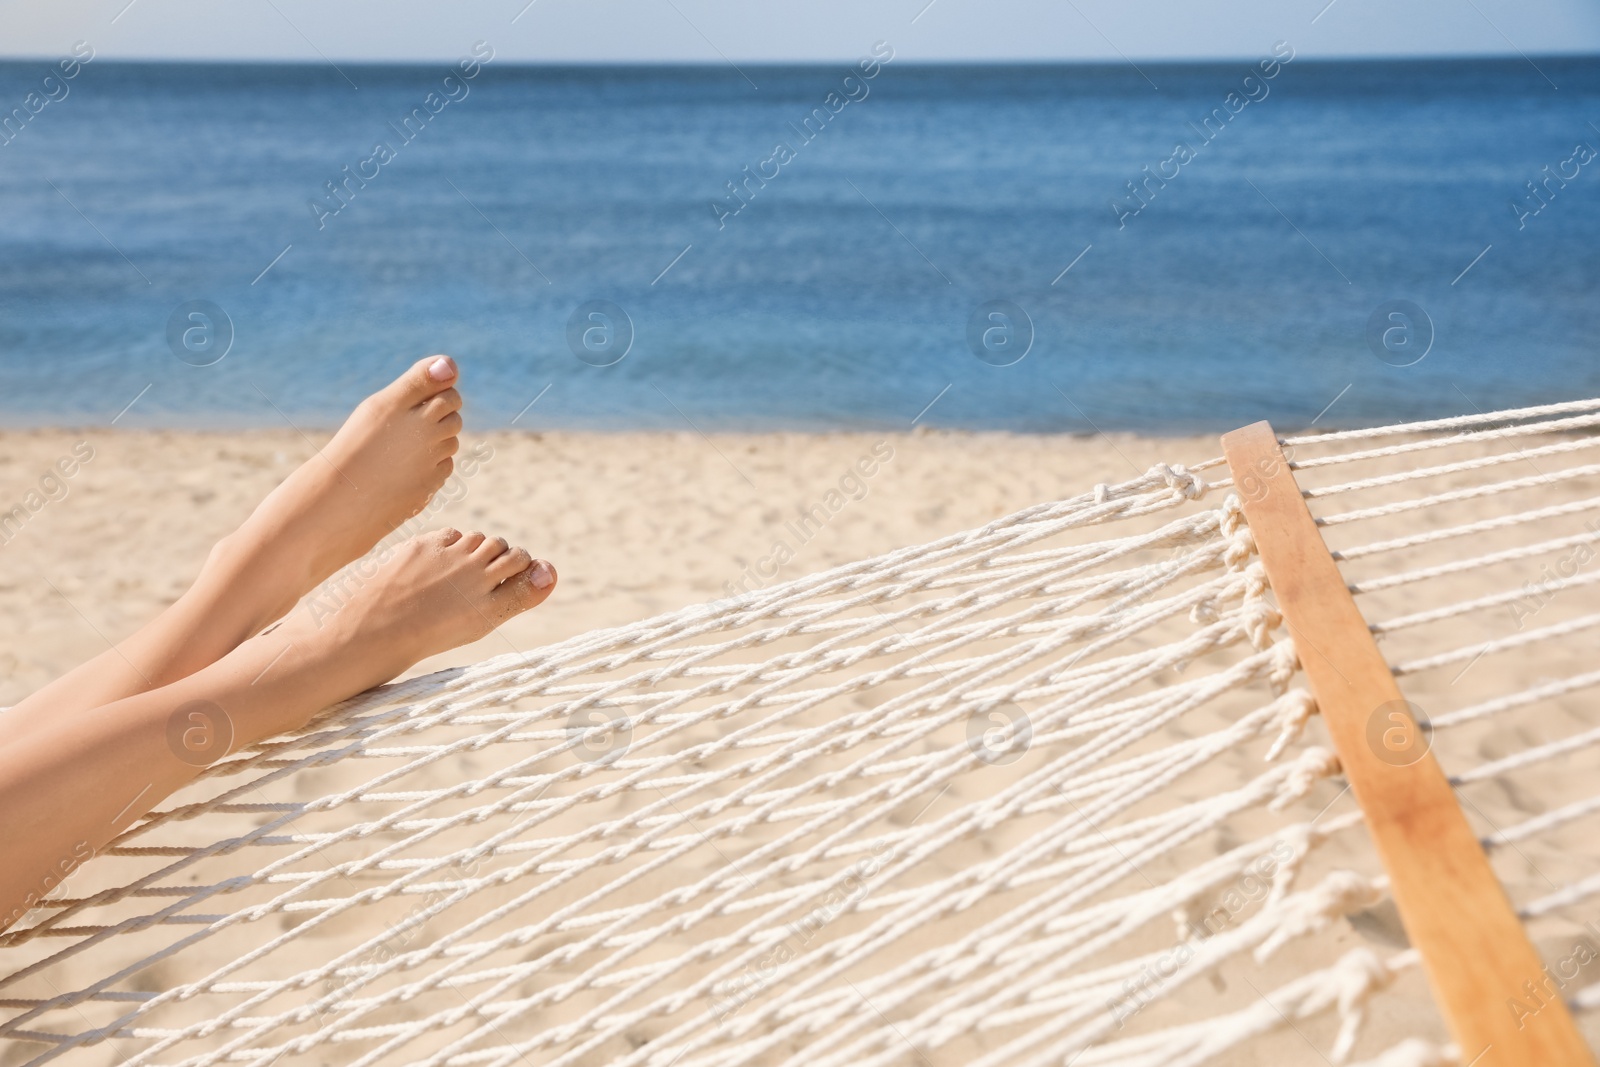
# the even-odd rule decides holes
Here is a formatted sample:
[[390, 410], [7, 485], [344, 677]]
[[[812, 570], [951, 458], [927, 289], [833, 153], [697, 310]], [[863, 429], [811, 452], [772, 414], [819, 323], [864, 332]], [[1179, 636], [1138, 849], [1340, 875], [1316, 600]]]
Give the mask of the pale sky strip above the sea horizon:
[[0, 56], [910, 61], [1600, 53], [1594, 0], [0, 0]]

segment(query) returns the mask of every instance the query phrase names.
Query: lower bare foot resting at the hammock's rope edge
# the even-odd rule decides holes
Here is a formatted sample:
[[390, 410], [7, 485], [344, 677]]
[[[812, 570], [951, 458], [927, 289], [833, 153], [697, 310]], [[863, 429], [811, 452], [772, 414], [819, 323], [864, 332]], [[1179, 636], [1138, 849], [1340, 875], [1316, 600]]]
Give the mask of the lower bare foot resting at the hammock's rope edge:
[[397, 545], [331, 616], [298, 611], [259, 641], [330, 653], [320, 673], [344, 697], [488, 635], [552, 589], [555, 568], [526, 549], [440, 530]]

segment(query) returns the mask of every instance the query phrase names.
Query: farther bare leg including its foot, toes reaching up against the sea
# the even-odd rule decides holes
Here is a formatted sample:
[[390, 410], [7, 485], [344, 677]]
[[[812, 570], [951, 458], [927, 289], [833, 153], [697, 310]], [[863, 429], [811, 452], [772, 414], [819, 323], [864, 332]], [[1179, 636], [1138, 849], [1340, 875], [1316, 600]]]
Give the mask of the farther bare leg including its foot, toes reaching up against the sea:
[[259, 633], [418, 514], [453, 469], [461, 394], [450, 357], [419, 360], [211, 550], [154, 622], [5, 712], [6, 739], [171, 685]]

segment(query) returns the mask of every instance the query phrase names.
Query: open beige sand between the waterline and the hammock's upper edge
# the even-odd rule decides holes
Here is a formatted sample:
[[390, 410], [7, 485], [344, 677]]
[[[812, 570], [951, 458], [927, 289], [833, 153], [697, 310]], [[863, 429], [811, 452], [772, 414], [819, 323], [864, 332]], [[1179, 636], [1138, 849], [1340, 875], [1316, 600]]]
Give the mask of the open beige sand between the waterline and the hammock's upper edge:
[[[210, 545], [320, 440], [0, 434], [0, 512], [38, 506], [0, 526], [0, 704], [176, 600]], [[78, 462], [74, 448], [93, 458]], [[419, 528], [502, 534], [555, 563], [562, 584], [544, 609], [419, 672], [800, 577], [1158, 461], [1213, 454], [1210, 438], [1134, 435], [467, 434], [456, 477]]]

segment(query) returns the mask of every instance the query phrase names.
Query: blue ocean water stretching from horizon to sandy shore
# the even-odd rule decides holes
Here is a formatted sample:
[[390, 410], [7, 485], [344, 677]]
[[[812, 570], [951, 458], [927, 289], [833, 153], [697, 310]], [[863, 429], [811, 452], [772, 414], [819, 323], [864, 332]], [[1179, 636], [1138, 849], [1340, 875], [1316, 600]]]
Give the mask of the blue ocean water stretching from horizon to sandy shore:
[[1291, 51], [0, 64], [0, 421], [328, 426], [429, 352], [478, 427], [1600, 394], [1600, 59]]

